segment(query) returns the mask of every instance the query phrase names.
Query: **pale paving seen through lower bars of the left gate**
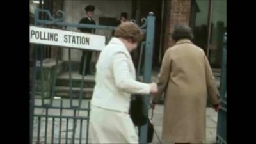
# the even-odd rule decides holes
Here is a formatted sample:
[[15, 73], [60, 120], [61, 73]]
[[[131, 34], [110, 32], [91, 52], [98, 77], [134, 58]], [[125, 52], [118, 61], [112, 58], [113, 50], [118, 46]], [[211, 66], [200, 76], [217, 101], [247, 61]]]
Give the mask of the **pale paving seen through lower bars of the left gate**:
[[[53, 106], [60, 106], [60, 101], [61, 99], [54, 99]], [[41, 102], [42, 100], [37, 99], [35, 104], [41, 105]], [[49, 103], [49, 100], [45, 100], [45, 103]], [[73, 100], [73, 106], [77, 106], [77, 104], [78, 100]], [[88, 100], [82, 100], [81, 104], [81, 108], [88, 108]], [[63, 99], [63, 107], [70, 107], [69, 99]], [[45, 115], [46, 111], [46, 109], [36, 108], [35, 114]], [[60, 116], [60, 113], [60, 109], [49, 109], [48, 111], [48, 114], [51, 116]], [[47, 140], [47, 143], [59, 143], [59, 141], [61, 141], [61, 143], [79, 143], [80, 138], [81, 143], [86, 143], [87, 120], [85, 118], [87, 118], [88, 113], [86, 110], [76, 111], [76, 116], [80, 118], [75, 121], [74, 113], [73, 110], [63, 109], [62, 115], [66, 116], [65, 118], [61, 120], [60, 118], [54, 118], [54, 120], [53, 118], [48, 118], [47, 132], [45, 132], [45, 116], [42, 116], [40, 120], [35, 117], [33, 125], [33, 143], [37, 143], [37, 141], [39, 143], [45, 143], [45, 140]], [[81, 120], [81, 118], [84, 119]], [[39, 124], [40, 129], [38, 129]], [[40, 131], [40, 136], [38, 136], [38, 131]], [[54, 139], [52, 139], [52, 137]]]

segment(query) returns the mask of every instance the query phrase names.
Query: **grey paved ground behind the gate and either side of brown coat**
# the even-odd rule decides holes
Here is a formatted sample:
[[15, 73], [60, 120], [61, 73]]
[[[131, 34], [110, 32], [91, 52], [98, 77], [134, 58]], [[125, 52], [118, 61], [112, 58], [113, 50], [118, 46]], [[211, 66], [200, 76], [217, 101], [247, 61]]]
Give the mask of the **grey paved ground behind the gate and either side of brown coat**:
[[[41, 100], [36, 100], [37, 105], [40, 105], [41, 102], [42, 102]], [[45, 100], [45, 102], [47, 103], [49, 102], [49, 100]], [[74, 106], [76, 106], [76, 104], [78, 104], [78, 101], [74, 100]], [[60, 99], [54, 99], [53, 106], [60, 106]], [[63, 106], [70, 107], [70, 100], [63, 99]], [[88, 108], [88, 100], [82, 101], [82, 108]], [[46, 109], [36, 108], [35, 113], [40, 115], [45, 115]], [[58, 116], [60, 115], [60, 109], [49, 109], [48, 113], [49, 115]], [[74, 143], [79, 143], [80, 133], [81, 133], [81, 143], [86, 143], [87, 120], [83, 120], [81, 122], [81, 120], [79, 119], [77, 120], [77, 122], [75, 121], [76, 126], [73, 127], [74, 121], [72, 117], [74, 116], [74, 111], [63, 110], [62, 115], [67, 116], [68, 125], [67, 125], [67, 118], [62, 118], [61, 123], [59, 118], [54, 118], [54, 122], [53, 122], [53, 118], [48, 118], [47, 132], [45, 132], [45, 129], [46, 129], [45, 118], [42, 117], [41, 120], [38, 120], [38, 118], [35, 118], [34, 129], [33, 129], [33, 143], [36, 143], [37, 141], [39, 141], [39, 143], [44, 143], [45, 140], [47, 140], [47, 143], [52, 143], [52, 141], [53, 143], [58, 143], [60, 137], [61, 137], [60, 138], [61, 143], [65, 143], [66, 140], [67, 140], [67, 143], [73, 143], [72, 138], [74, 138]], [[88, 115], [87, 111], [79, 111], [79, 112], [76, 111], [76, 116], [81, 116], [82, 118], [86, 118], [87, 115]], [[213, 144], [216, 141], [217, 113], [215, 113], [212, 108], [207, 108], [206, 119], [207, 119], [206, 143]], [[163, 105], [156, 105], [156, 108], [154, 110], [153, 123], [159, 138], [161, 138], [161, 132], [163, 127], [162, 120], [163, 120]], [[40, 140], [38, 140], [39, 121], [40, 121], [40, 137], [39, 137]], [[54, 125], [52, 126], [53, 123]], [[60, 126], [61, 126], [61, 129], [60, 129]], [[82, 129], [80, 129], [81, 126], [83, 127]], [[73, 131], [75, 133], [74, 136], [72, 135]], [[60, 133], [61, 133], [61, 136], [60, 136]], [[54, 139], [52, 139], [52, 134], [54, 136]], [[153, 143], [159, 143], [156, 135], [154, 135]]]

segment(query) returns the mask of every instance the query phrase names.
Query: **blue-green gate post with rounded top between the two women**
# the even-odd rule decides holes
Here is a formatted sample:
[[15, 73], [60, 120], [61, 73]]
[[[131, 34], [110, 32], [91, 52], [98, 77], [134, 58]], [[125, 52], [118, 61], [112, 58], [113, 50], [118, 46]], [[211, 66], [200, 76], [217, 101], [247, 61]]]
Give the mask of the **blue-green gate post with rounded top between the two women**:
[[[152, 56], [153, 56], [153, 46], [154, 46], [154, 28], [155, 28], [155, 17], [153, 12], [150, 12], [147, 16], [147, 32], [146, 32], [146, 47], [145, 47], [145, 63], [144, 63], [144, 75], [143, 80], [145, 83], [151, 82], [151, 72], [152, 72]], [[145, 103], [145, 112], [148, 115], [150, 95], [143, 97]], [[140, 143], [147, 143], [147, 131], [148, 122], [140, 127]]]

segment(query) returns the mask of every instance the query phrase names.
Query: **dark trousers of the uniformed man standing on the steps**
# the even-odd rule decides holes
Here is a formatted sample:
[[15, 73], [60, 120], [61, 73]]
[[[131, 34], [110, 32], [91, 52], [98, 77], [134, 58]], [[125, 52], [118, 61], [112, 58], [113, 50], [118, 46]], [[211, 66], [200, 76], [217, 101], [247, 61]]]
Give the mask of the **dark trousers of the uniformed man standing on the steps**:
[[87, 55], [86, 59], [86, 66], [85, 66], [85, 75], [90, 74], [90, 62], [92, 60], [92, 51], [83, 51], [82, 57], [81, 57], [81, 62], [80, 62], [80, 69], [79, 69], [79, 74], [82, 75], [83, 73], [83, 65], [84, 65], [84, 58]]

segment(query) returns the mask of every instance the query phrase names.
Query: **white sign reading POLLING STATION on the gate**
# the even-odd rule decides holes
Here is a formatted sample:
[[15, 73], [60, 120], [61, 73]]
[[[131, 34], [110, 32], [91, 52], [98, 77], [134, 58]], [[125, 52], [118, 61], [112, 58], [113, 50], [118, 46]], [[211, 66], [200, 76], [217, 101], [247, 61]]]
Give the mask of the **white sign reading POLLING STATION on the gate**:
[[30, 42], [101, 51], [105, 47], [105, 36], [79, 33], [60, 29], [30, 26]]

